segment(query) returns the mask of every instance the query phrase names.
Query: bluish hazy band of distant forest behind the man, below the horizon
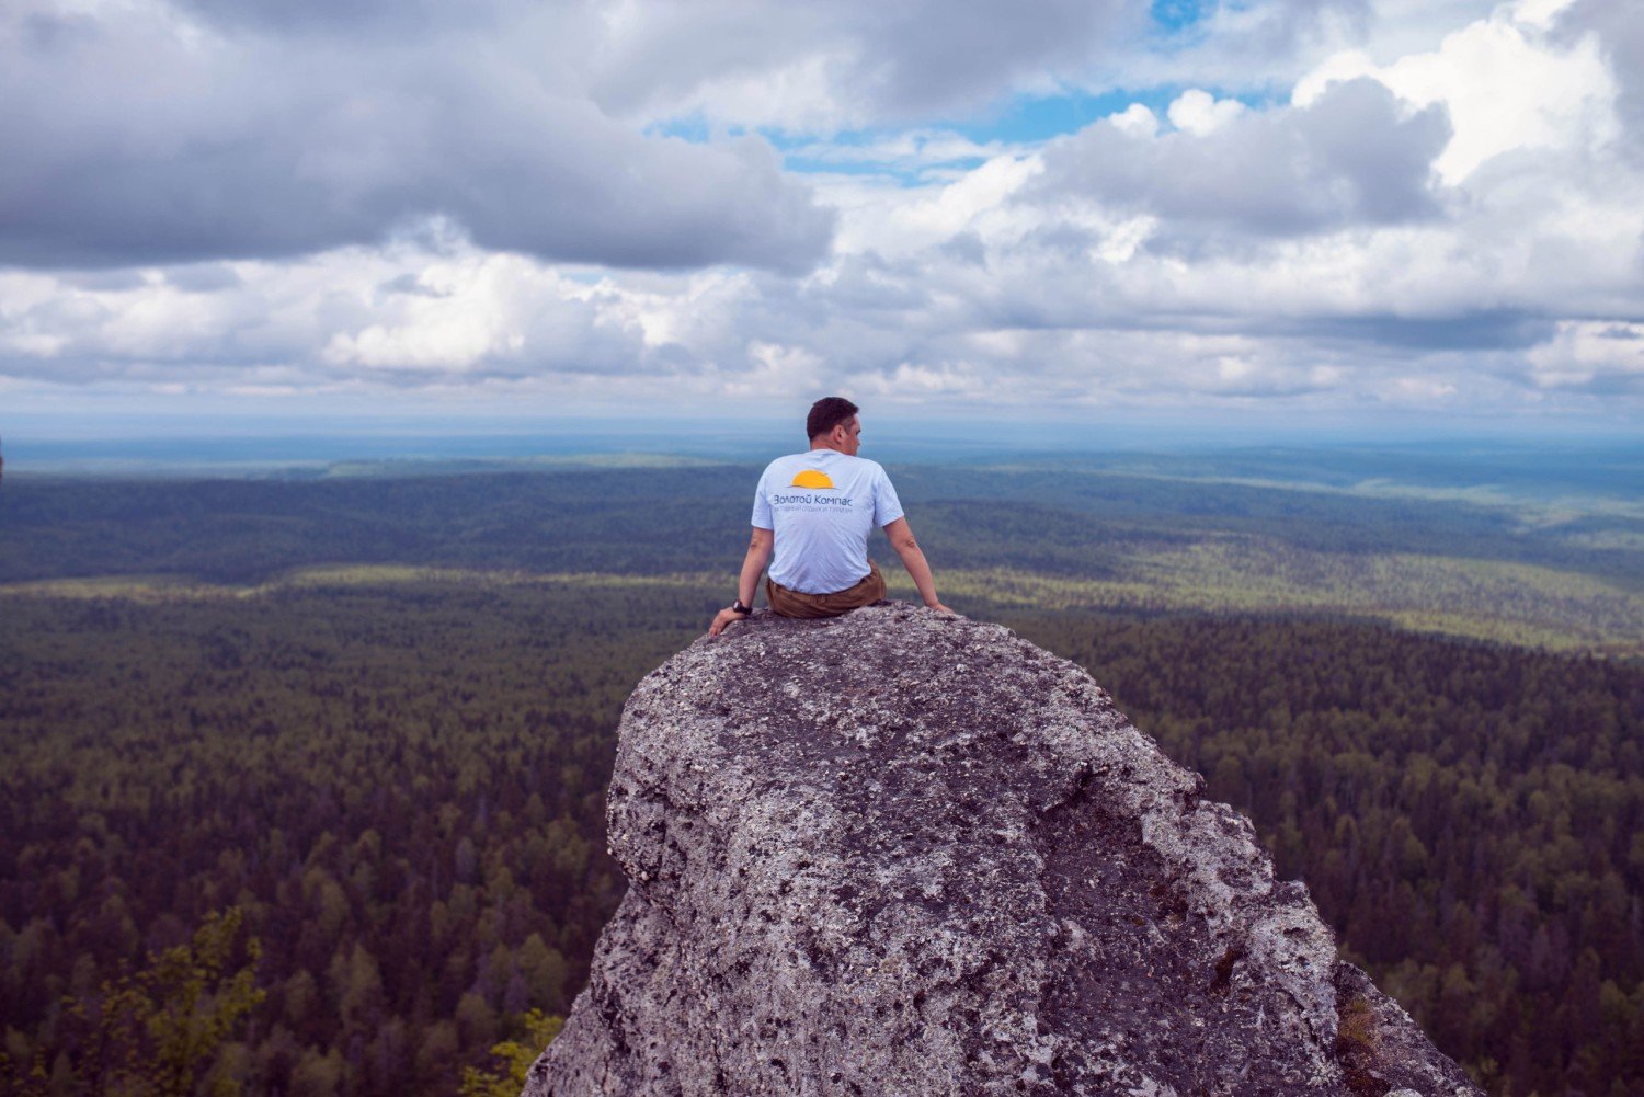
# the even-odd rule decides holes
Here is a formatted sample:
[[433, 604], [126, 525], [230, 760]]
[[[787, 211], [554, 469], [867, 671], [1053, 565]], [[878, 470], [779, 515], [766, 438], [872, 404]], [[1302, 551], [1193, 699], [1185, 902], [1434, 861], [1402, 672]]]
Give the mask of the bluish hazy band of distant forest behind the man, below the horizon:
[[[1644, 589], [1644, 521], [1065, 469], [893, 469], [939, 567], [1103, 577], [1138, 548], [1261, 536], [1575, 569]], [[0, 582], [316, 564], [672, 574], [735, 569], [756, 467], [337, 480], [43, 480], [0, 492]]]

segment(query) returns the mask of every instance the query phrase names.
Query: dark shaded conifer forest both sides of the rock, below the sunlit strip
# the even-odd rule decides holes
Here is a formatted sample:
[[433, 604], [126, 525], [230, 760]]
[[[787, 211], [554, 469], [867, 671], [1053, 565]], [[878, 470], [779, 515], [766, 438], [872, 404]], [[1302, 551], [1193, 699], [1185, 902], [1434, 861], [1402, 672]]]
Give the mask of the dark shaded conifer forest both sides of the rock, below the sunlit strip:
[[[671, 584], [8, 599], [7, 1054], [77, 1092], [64, 998], [245, 911], [252, 1092], [455, 1092], [559, 1013], [620, 898], [602, 793]], [[1353, 957], [1494, 1092], [1644, 1085], [1644, 669], [1249, 618], [1009, 620], [1249, 811]]]

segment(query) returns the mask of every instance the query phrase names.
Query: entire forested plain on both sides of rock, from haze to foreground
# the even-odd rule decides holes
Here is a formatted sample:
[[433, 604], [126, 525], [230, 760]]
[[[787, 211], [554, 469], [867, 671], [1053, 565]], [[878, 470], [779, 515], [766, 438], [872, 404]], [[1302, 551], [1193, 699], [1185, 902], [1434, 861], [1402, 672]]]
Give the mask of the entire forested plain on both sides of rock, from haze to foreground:
[[[723, 605], [746, 520], [728, 474], [608, 475], [626, 480], [7, 482], [7, 1092], [487, 1092], [493, 1046], [518, 1059], [552, 1031], [621, 895], [621, 704]], [[1343, 612], [1218, 602], [1215, 567], [1134, 571], [1241, 538], [1624, 597], [1634, 549], [1511, 541], [1485, 508], [1374, 503], [1378, 526], [1363, 500], [1251, 488], [1217, 513], [1138, 488], [1126, 510], [1111, 485], [1044, 484], [1006, 505], [986, 477], [942, 498], [927, 475], [899, 487], [945, 600], [1090, 668], [1491, 1092], [1644, 1094], [1626, 604], [1585, 645], [1580, 600], [1514, 610], [1565, 638], [1531, 648], [1480, 638], [1506, 610], [1466, 584], [1432, 587], [1448, 617], [1415, 632], [1379, 587]], [[1463, 551], [1488, 530], [1511, 543]], [[1337, 582], [1248, 567], [1281, 594]]]

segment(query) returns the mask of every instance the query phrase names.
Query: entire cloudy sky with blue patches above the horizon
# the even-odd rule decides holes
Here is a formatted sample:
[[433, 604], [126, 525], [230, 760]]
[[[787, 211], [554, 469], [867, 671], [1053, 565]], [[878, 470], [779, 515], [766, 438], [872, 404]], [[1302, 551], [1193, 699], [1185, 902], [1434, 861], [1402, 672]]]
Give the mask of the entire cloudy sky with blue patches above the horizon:
[[5, 413], [1644, 411], [1636, 0], [7, 0]]

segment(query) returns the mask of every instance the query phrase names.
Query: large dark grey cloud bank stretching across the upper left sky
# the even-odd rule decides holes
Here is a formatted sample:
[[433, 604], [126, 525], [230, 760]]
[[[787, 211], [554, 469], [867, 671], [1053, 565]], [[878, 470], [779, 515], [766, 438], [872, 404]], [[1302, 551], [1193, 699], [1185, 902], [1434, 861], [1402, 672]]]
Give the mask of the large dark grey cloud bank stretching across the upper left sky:
[[797, 271], [832, 235], [763, 141], [644, 137], [478, 39], [0, 16], [0, 263], [23, 266], [299, 255], [444, 217], [549, 260]]

